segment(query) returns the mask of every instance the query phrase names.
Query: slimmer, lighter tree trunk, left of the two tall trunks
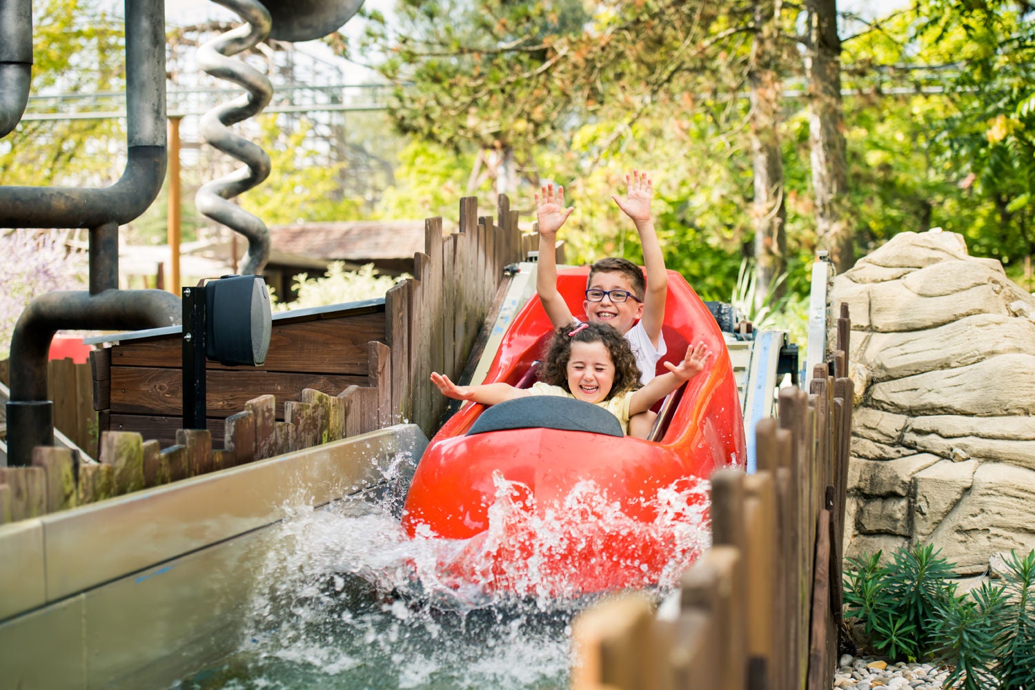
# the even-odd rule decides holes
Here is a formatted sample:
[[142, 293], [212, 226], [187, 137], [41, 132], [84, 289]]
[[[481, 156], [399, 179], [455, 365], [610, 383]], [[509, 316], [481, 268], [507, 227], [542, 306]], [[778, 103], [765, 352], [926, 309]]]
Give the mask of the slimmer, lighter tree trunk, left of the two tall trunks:
[[[755, 23], [758, 29], [751, 46], [748, 71], [751, 102], [751, 164], [755, 173], [755, 261], [758, 271], [756, 309], [763, 306], [770, 286], [787, 265], [787, 207], [783, 204], [783, 159], [777, 124], [780, 82], [775, 62], [774, 17], [779, 0], [757, 0]], [[783, 291], [779, 286], [776, 294]]]

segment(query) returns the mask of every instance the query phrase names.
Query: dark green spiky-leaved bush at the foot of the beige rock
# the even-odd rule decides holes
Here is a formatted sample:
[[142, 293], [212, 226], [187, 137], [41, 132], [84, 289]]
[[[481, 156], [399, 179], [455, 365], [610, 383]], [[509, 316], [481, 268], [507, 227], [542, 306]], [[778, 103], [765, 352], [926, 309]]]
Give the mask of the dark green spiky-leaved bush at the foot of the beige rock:
[[1035, 688], [1035, 551], [1011, 551], [1003, 583], [956, 595], [952, 564], [931, 546], [849, 559], [846, 618], [863, 624], [874, 652], [931, 659], [951, 671], [946, 687]]

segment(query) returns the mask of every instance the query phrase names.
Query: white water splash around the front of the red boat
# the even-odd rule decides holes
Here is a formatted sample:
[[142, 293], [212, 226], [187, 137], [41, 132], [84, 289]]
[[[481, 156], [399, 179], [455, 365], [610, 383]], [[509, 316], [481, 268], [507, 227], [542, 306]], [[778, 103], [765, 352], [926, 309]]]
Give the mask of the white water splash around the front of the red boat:
[[592, 482], [537, 507], [498, 477], [485, 533], [410, 539], [395, 487], [412, 462], [396, 460], [363, 498], [272, 528], [239, 652], [181, 688], [564, 688], [571, 619], [598, 595], [570, 587], [562, 554], [595, 553], [594, 576], [660, 599], [707, 547], [707, 484], [693, 482], [645, 498], [657, 517], [641, 522]]

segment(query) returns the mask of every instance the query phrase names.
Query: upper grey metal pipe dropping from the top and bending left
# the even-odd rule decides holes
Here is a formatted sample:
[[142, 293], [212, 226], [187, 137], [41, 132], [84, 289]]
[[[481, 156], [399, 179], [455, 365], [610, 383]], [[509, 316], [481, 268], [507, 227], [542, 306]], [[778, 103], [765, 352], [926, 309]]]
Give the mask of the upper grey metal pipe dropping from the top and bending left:
[[[158, 196], [167, 163], [165, 1], [126, 0], [125, 14], [128, 159], [122, 177], [102, 189], [0, 186], [0, 228], [121, 224]], [[31, 22], [29, 34], [31, 40]]]

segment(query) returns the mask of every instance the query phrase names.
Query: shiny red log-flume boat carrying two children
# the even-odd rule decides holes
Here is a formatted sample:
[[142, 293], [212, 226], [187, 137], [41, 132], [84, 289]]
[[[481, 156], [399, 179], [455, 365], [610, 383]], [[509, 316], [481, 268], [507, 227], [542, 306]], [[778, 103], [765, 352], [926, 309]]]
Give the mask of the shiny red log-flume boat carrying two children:
[[[585, 318], [588, 270], [559, 271], [558, 289], [578, 305], [575, 317]], [[551, 331], [533, 296], [485, 383], [530, 386]], [[721, 467], [744, 467], [744, 428], [722, 332], [675, 271], [662, 333], [663, 360], [678, 361], [697, 341], [713, 356], [658, 403], [654, 440], [622, 436], [600, 408], [549, 396], [465, 403], [435, 436], [417, 466], [403, 527], [411, 537], [464, 540], [440, 564], [452, 587], [580, 596], [650, 586], [678, 578], [707, 546], [701, 480]], [[668, 369], [658, 362], [657, 370]], [[673, 496], [682, 499], [673, 503]], [[704, 534], [690, 544], [680, 537], [687, 520]]]

